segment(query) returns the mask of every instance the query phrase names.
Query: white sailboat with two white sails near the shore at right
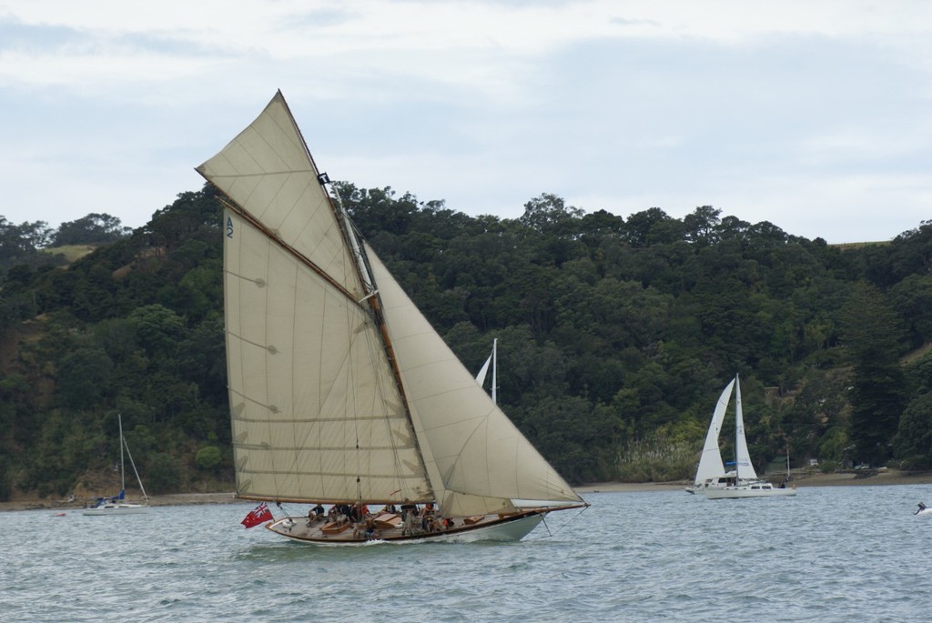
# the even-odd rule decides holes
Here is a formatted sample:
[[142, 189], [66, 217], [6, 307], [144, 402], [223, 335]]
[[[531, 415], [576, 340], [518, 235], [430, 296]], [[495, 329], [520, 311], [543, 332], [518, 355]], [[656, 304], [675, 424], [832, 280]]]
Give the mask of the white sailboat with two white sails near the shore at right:
[[[721, 463], [719, 453], [719, 430], [724, 419], [724, 413], [728, 408], [728, 401], [731, 397], [732, 387], [734, 387], [734, 471], [724, 473], [724, 467]], [[724, 406], [722, 406], [724, 402]], [[713, 427], [716, 427], [716, 416], [719, 416], [718, 427], [715, 429], [715, 452], [711, 450], [710, 438], [713, 434]], [[699, 469], [696, 473], [696, 487], [699, 487], [700, 474], [703, 469], [703, 459], [706, 454], [718, 454], [718, 464], [715, 464], [714, 456], [709, 459], [710, 471], [702, 474], [703, 486], [701, 492], [710, 500], [720, 500], [729, 498], [742, 497], [773, 497], [782, 495], [795, 495], [795, 488], [778, 488], [774, 487], [771, 482], [761, 480], [753, 464], [751, 464], [750, 453], [747, 450], [747, 438], [745, 437], [745, 420], [741, 408], [741, 382], [735, 375], [733, 381], [725, 387], [719, 402], [716, 405], [715, 413], [712, 416], [712, 424], [709, 426], [706, 434], [706, 447], [703, 450], [703, 457], [699, 461]], [[718, 469], [721, 477], [717, 478], [714, 470]]]

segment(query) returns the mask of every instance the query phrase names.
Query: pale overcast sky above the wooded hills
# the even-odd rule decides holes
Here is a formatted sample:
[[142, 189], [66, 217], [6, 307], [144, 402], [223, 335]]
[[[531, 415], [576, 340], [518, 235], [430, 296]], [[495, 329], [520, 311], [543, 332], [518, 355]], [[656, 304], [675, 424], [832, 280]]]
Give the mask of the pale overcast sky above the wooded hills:
[[0, 215], [143, 225], [279, 88], [331, 179], [471, 215], [932, 219], [922, 0], [0, 0]]

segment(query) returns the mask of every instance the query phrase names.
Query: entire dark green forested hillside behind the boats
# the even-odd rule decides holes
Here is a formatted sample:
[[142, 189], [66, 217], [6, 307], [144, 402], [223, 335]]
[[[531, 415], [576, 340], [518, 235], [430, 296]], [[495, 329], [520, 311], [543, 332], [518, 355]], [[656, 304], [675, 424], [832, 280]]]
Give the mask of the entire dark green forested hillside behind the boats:
[[[787, 450], [932, 467], [932, 223], [842, 250], [707, 206], [622, 218], [541, 195], [506, 220], [336, 188], [468, 368], [499, 339], [500, 404], [569, 481], [689, 477], [735, 373], [761, 471]], [[0, 499], [98, 493], [116, 413], [147, 488], [231, 488], [212, 188], [131, 233], [83, 221], [0, 217]], [[48, 252], [88, 230], [102, 244], [66, 268]]]

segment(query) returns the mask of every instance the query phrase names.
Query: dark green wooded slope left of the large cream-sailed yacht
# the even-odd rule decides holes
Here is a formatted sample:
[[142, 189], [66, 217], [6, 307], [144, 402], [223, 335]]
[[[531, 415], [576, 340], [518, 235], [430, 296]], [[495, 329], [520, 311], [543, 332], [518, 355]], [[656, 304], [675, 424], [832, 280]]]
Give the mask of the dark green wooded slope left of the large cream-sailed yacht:
[[[205, 187], [130, 237], [97, 218], [106, 215], [89, 215], [75, 223], [100, 224], [110, 244], [67, 271], [7, 271], [0, 455], [16, 468], [4, 471], [0, 494], [102, 486], [86, 475], [112, 476], [117, 413], [153, 492], [188, 486], [185, 465], [194, 465], [199, 442], [228, 444], [220, 213]], [[19, 307], [3, 317], [11, 301]]]

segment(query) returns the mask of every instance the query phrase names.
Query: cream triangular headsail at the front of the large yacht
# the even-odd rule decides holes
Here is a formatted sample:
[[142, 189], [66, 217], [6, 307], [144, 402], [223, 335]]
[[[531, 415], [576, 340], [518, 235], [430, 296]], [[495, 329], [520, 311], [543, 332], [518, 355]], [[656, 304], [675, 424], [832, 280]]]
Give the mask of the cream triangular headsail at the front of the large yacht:
[[448, 515], [514, 508], [512, 500], [580, 502], [459, 362], [366, 248], [384, 305], [421, 452]]

